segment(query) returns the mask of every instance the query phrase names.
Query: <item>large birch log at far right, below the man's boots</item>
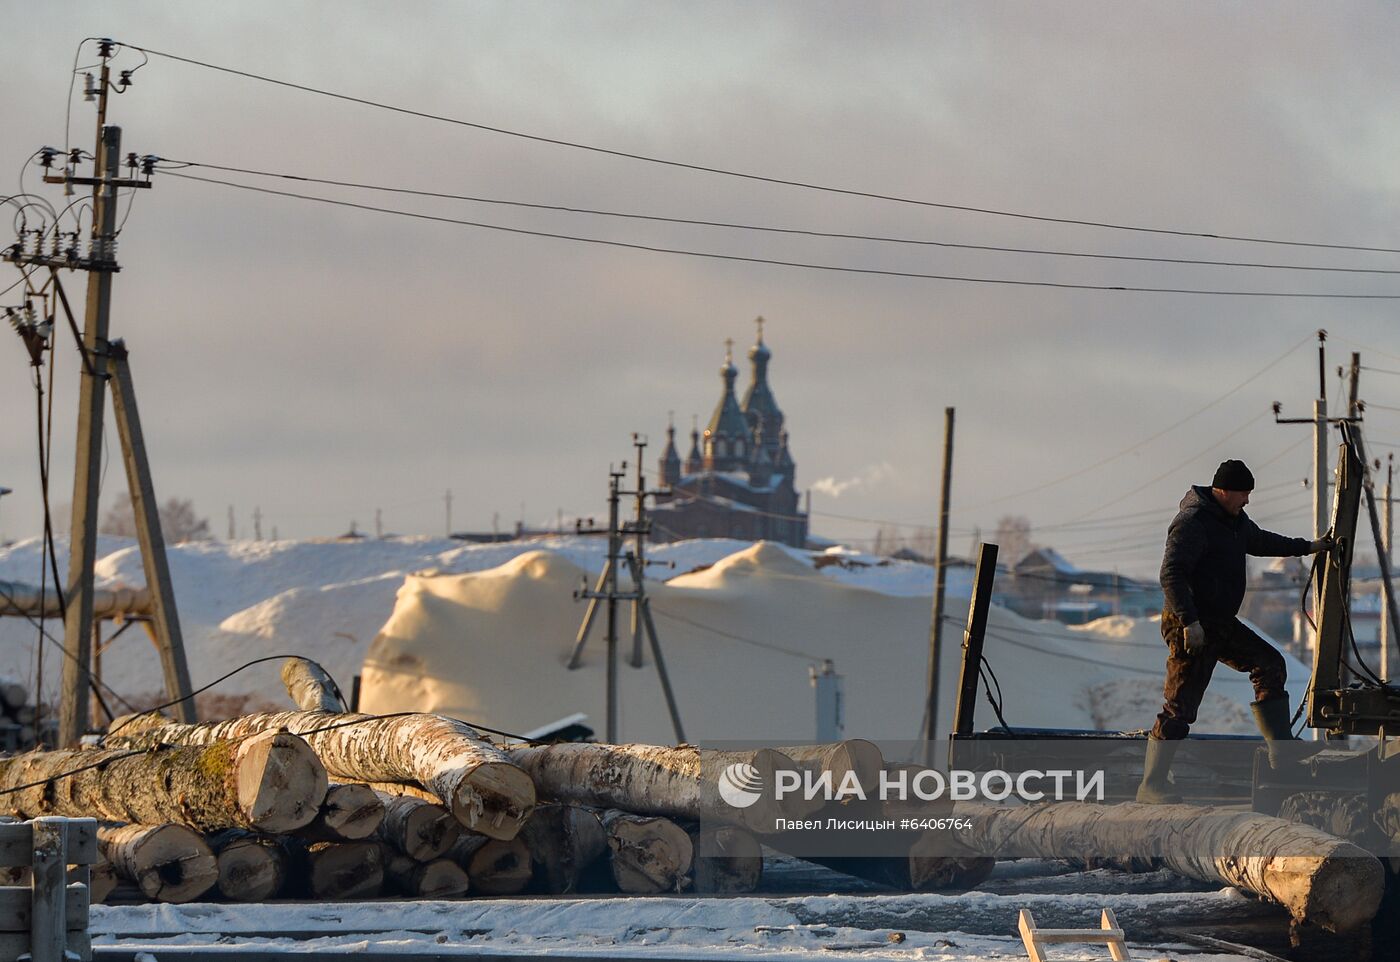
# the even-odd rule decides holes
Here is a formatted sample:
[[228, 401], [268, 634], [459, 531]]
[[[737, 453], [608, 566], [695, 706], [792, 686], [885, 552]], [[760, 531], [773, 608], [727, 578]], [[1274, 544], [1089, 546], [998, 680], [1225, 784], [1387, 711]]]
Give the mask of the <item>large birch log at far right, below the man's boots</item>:
[[1253, 892], [1337, 933], [1369, 923], [1385, 891], [1385, 868], [1365, 850], [1254, 812], [1137, 802], [959, 804], [956, 812], [972, 819], [959, 840], [988, 856], [1156, 856], [1177, 875]]

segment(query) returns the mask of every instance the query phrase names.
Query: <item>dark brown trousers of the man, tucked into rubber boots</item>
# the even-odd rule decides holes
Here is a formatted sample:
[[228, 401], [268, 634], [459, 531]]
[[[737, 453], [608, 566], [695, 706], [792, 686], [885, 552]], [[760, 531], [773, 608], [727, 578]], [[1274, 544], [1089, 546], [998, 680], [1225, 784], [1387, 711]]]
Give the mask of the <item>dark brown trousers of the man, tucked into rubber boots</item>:
[[1256, 702], [1288, 695], [1284, 689], [1288, 669], [1274, 646], [1245, 627], [1238, 618], [1203, 618], [1201, 626], [1205, 629], [1205, 650], [1190, 655], [1182, 636], [1186, 627], [1182, 619], [1162, 612], [1162, 639], [1168, 647], [1166, 685], [1162, 686], [1162, 711], [1152, 725], [1152, 738], [1186, 738], [1211, 683], [1215, 662], [1249, 672]]

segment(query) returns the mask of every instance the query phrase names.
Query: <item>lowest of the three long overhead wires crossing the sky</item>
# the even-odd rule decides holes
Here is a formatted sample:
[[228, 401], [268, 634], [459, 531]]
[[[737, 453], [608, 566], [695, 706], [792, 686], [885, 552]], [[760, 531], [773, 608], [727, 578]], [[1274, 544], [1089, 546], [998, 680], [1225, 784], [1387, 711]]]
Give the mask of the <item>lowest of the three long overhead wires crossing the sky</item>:
[[252, 190], [255, 193], [267, 193], [277, 197], [295, 197], [298, 200], [314, 200], [318, 203], [332, 204], [336, 207], [351, 207], [354, 210], [368, 210], [379, 214], [395, 214], [399, 217], [409, 217], [413, 220], [427, 220], [435, 221], [438, 224], [458, 224], [462, 227], [479, 227], [489, 231], [503, 231], [505, 234], [521, 234], [525, 237], [545, 237], [556, 241], [573, 241], [577, 244], [599, 244], [602, 246], [612, 248], [626, 248], [630, 251], [650, 251], [652, 253], [675, 253], [689, 258], [708, 258], [711, 260], [731, 260], [739, 263], [766, 263], [778, 267], [799, 267], [802, 270], [826, 270], [833, 273], [844, 274], [875, 274], [882, 277], [911, 277], [917, 280], [948, 280], [965, 284], [993, 284], [993, 286], [1009, 286], [1009, 287], [1051, 287], [1058, 290], [1084, 290], [1084, 291], [1121, 291], [1133, 294], [1204, 294], [1212, 297], [1282, 297], [1282, 298], [1309, 298], [1309, 300], [1348, 300], [1348, 301], [1400, 301], [1400, 294], [1331, 294], [1323, 291], [1226, 291], [1226, 290], [1207, 290], [1196, 287], [1137, 287], [1124, 284], [1071, 284], [1067, 281], [1054, 280], [1023, 280], [1016, 277], [969, 277], [965, 274], [935, 274], [923, 273], [916, 270], [889, 270], [882, 267], [850, 267], [843, 265], [825, 265], [825, 263], [809, 263], [804, 260], [780, 260], [776, 258], [750, 258], [738, 253], [718, 253], [714, 251], [689, 251], [685, 248], [666, 248], [652, 244], [631, 244], [627, 241], [609, 241], [599, 237], [581, 237], [577, 234], [559, 234], [554, 231], [532, 231], [524, 227], [505, 227], [504, 224], [487, 224], [483, 221], [463, 220], [458, 217], [441, 217], [437, 214], [421, 214], [410, 210], [398, 210], [395, 207], [377, 207], [374, 204], [361, 204], [351, 200], [336, 200], [333, 197], [318, 197], [309, 193], [295, 193], [291, 190], [273, 190], [270, 188], [255, 188], [251, 183], [234, 183], [232, 181], [217, 181], [207, 176], [195, 176], [193, 174], [176, 174], [174, 171], [165, 171], [167, 176], [176, 176], [183, 181], [199, 181], [202, 183], [217, 183], [225, 188], [238, 188], [239, 190]]

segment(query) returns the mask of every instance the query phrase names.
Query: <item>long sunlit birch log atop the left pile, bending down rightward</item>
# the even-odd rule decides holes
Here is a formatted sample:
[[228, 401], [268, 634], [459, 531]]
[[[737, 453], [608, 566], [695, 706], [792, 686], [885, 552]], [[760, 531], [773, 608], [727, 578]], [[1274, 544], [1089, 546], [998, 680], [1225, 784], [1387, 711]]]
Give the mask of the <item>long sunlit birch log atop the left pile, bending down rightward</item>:
[[[302, 735], [336, 779], [416, 781], [441, 798], [463, 826], [514, 839], [535, 808], [535, 784], [463, 721], [434, 714], [381, 718], [328, 711], [272, 711], [202, 725], [143, 718], [109, 737], [119, 745], [204, 745], [259, 731]], [[130, 732], [133, 728], [137, 731]]]

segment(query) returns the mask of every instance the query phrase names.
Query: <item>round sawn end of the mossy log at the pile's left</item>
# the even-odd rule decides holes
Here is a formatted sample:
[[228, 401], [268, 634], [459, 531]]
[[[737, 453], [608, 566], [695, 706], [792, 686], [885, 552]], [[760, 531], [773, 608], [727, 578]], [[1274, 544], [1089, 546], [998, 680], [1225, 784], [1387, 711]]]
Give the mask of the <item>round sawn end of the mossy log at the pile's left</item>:
[[262, 732], [238, 744], [238, 802], [249, 828], [283, 833], [309, 825], [326, 797], [326, 769], [307, 742]]

